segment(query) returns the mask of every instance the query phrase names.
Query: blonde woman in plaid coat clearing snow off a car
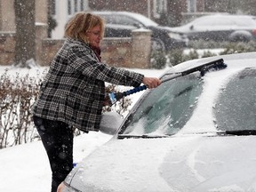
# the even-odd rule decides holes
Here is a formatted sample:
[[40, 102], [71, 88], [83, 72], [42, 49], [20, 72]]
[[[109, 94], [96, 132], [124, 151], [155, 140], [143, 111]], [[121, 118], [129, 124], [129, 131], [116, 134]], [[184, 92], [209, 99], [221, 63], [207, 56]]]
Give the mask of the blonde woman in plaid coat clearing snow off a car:
[[91, 13], [77, 13], [65, 28], [67, 40], [52, 60], [32, 108], [36, 129], [52, 169], [52, 192], [73, 165], [73, 132], [100, 129], [105, 84], [155, 88], [161, 81], [100, 61], [103, 20]]

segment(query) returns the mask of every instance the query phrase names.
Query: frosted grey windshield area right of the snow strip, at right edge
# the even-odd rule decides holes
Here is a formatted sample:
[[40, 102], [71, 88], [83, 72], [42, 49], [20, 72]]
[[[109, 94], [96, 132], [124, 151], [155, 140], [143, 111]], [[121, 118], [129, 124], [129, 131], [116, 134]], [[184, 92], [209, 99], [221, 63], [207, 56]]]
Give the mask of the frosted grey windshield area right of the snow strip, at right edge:
[[255, 68], [244, 69], [228, 82], [214, 108], [219, 130], [256, 130], [255, 88]]

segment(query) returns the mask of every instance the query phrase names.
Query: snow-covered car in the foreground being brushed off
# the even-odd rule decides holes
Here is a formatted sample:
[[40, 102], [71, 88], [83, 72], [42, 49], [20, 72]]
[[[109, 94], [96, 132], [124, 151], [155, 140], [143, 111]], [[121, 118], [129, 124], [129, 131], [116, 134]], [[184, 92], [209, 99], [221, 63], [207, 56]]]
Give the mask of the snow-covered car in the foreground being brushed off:
[[[256, 191], [256, 52], [188, 60], [143, 92], [61, 192]], [[110, 131], [109, 131], [110, 130]]]

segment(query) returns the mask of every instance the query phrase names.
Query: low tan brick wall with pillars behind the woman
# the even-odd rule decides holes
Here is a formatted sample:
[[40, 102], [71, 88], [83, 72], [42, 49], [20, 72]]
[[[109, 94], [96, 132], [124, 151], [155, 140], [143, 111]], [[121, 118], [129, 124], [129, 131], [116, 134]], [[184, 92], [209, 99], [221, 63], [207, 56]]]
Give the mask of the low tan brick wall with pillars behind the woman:
[[[148, 68], [150, 62], [150, 31], [134, 31], [132, 38], [105, 38], [101, 44], [102, 61], [122, 68]], [[0, 65], [12, 65], [15, 55], [15, 33], [0, 32]], [[36, 28], [36, 63], [49, 66], [65, 39], [48, 39], [45, 28]]]

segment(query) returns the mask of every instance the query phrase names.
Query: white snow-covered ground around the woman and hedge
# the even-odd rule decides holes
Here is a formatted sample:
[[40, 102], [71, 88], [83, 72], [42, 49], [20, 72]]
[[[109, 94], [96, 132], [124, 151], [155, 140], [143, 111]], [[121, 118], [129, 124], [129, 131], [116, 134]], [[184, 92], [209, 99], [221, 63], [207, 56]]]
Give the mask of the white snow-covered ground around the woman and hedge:
[[[0, 75], [5, 68], [0, 67]], [[40, 76], [46, 68], [10, 68], [8, 73], [26, 76]], [[161, 70], [132, 68], [145, 76], [161, 76], [167, 68]], [[39, 75], [38, 75], [39, 73]], [[131, 99], [137, 100], [142, 92], [133, 94]], [[77, 136], [74, 140], [74, 162], [81, 161], [95, 148], [111, 139], [110, 135], [101, 132], [89, 132]], [[41, 141], [35, 141], [12, 148], [0, 150], [0, 191], [1, 192], [49, 192], [51, 190], [51, 170], [48, 158]]]

